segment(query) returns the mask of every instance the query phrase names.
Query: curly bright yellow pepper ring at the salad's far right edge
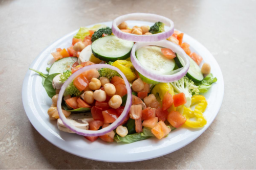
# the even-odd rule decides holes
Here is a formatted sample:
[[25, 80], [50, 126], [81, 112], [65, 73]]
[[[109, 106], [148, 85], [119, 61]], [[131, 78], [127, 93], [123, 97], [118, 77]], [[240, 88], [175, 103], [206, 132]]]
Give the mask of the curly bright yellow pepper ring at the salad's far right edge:
[[[185, 125], [191, 128], [201, 128], [207, 124], [207, 120], [203, 116], [203, 112], [207, 107], [207, 101], [203, 95], [194, 95], [191, 98], [191, 105], [197, 104], [195, 111], [190, 108], [184, 107], [183, 115], [186, 117]], [[190, 118], [196, 117], [197, 120], [190, 120]]]

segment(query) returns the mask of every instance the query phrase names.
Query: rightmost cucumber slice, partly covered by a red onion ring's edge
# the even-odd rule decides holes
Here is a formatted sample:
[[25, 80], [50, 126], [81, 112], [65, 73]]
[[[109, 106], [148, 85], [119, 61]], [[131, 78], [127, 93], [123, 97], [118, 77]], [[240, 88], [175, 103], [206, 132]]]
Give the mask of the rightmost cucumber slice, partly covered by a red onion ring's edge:
[[[178, 65], [178, 67], [181, 68], [181, 67], [183, 67], [183, 65], [185, 65], [184, 61], [178, 54], [176, 54], [176, 55], [177, 55], [177, 57], [175, 57], [174, 60], [175, 60], [176, 64]], [[190, 66], [189, 66], [186, 76], [189, 79], [193, 80], [195, 83], [199, 83], [204, 79], [201, 69], [197, 65], [197, 63], [193, 59], [191, 59], [191, 57], [188, 56], [188, 58], [190, 60]]]

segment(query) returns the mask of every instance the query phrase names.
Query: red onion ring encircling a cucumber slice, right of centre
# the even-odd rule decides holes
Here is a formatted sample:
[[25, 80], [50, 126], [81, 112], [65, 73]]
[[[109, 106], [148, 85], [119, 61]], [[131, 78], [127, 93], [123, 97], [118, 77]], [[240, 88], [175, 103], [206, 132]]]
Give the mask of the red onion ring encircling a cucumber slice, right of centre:
[[[177, 72], [176, 74], [173, 75], [159, 75], [159, 74], [154, 74], [154, 72], [146, 70], [140, 62], [138, 61], [135, 52], [139, 48], [143, 46], [149, 46], [149, 45], [156, 45], [156, 46], [162, 46], [165, 48], [169, 48], [173, 50], [175, 53], [179, 54], [180, 57], [184, 60], [185, 66], [183, 67], [182, 70]], [[186, 53], [182, 50], [182, 48], [179, 45], [176, 45], [173, 42], [167, 41], [167, 40], [162, 40], [158, 42], [137, 42], [133, 45], [132, 52], [131, 52], [131, 61], [133, 63], [134, 68], [140, 72], [143, 76], [145, 76], [148, 79], [157, 81], [157, 82], [162, 82], [162, 83], [169, 83], [169, 82], [174, 82], [177, 80], [180, 80], [182, 77], [184, 77], [188, 71], [189, 68], [189, 58], [186, 55]]]

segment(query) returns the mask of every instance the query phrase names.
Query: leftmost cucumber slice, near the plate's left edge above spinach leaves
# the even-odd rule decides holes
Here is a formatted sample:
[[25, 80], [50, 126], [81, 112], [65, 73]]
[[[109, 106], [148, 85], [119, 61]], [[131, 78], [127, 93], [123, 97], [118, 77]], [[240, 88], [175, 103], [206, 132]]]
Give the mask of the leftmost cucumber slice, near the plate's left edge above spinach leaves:
[[65, 57], [60, 60], [55, 61], [49, 69], [49, 75], [55, 73], [62, 73], [67, 70], [71, 70], [74, 62], [77, 61], [77, 57]]

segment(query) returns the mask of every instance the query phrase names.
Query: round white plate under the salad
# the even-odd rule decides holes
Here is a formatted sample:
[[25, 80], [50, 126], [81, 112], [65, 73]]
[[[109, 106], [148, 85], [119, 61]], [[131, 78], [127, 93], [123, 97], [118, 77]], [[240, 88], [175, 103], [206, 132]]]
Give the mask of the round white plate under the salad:
[[[128, 21], [129, 26], [152, 26], [152, 22], [143, 21]], [[111, 27], [112, 22], [102, 22], [106, 26]], [[88, 26], [88, 27], [92, 27]], [[44, 51], [42, 51], [30, 68], [46, 72], [48, 61], [53, 57], [50, 55], [56, 48], [67, 48], [72, 43], [73, 36], [78, 30], [58, 39]], [[216, 62], [215, 58], [210, 52], [197, 40], [188, 35], [184, 35], [183, 40], [190, 44], [193, 52], [197, 52], [203, 57], [203, 62], [210, 63], [212, 74], [218, 78], [217, 83], [214, 83], [211, 89], [204, 94], [208, 107], [204, 112], [207, 119], [207, 125], [202, 129], [185, 129], [178, 128], [171, 132], [168, 137], [158, 140], [150, 138], [130, 144], [125, 143], [106, 143], [98, 139], [95, 142], [90, 142], [83, 136], [61, 132], [56, 126], [56, 121], [49, 120], [47, 110], [51, 106], [51, 99], [48, 97], [44, 87], [41, 84], [41, 77], [35, 72], [28, 70], [22, 89], [23, 105], [27, 116], [35, 127], [35, 129], [44, 136], [48, 141], [56, 145], [56, 147], [65, 150], [74, 155], [107, 162], [132, 162], [141, 161], [146, 159], [156, 158], [168, 153], [172, 153], [191, 141], [199, 137], [215, 119], [220, 109], [223, 94], [224, 82], [221, 69]]]

